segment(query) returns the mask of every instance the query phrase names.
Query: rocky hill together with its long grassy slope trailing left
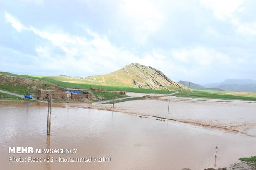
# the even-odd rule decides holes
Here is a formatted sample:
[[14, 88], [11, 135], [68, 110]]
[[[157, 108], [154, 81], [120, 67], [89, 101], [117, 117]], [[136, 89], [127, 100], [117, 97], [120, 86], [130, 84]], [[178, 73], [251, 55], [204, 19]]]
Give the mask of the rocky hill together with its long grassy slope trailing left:
[[[149, 91], [154, 93], [168, 93], [161, 91], [190, 91], [189, 88], [169, 79], [161, 71], [138, 63], [126, 65], [124, 68], [106, 75], [90, 76], [87, 78], [67, 76], [47, 76], [40, 78], [67, 88], [90, 88], [94, 86], [97, 88], [102, 87], [106, 90], [147, 93]], [[137, 88], [140, 88], [140, 90]]]

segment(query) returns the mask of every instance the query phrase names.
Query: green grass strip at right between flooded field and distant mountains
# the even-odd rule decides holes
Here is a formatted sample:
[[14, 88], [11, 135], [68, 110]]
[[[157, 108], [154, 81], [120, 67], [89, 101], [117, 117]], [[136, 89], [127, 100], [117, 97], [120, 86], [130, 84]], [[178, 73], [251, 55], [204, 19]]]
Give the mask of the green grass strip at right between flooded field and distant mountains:
[[193, 98], [213, 98], [213, 99], [229, 99], [229, 100], [251, 100], [256, 101], [256, 97], [249, 97], [244, 95], [232, 95], [219, 91], [204, 91], [192, 90], [192, 92], [180, 92], [176, 94], [177, 97], [193, 97]]

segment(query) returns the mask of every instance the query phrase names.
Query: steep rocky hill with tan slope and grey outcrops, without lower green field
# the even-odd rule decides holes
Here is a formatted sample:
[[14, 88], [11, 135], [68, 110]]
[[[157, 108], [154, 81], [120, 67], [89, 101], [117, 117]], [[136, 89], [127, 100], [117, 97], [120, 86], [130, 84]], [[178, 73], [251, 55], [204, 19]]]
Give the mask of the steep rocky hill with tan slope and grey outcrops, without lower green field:
[[153, 67], [131, 63], [106, 75], [95, 76], [105, 85], [130, 86], [159, 90], [187, 91], [186, 86], [168, 78], [163, 72]]

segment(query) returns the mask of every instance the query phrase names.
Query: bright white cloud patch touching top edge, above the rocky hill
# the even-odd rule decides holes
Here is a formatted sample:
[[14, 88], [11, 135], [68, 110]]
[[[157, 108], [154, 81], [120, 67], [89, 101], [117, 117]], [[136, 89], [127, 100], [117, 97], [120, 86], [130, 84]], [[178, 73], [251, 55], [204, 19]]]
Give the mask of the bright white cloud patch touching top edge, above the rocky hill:
[[145, 43], [149, 35], [163, 26], [165, 18], [158, 4], [152, 0], [124, 0], [120, 5], [120, 13], [128, 23], [127, 27], [132, 28], [137, 42]]

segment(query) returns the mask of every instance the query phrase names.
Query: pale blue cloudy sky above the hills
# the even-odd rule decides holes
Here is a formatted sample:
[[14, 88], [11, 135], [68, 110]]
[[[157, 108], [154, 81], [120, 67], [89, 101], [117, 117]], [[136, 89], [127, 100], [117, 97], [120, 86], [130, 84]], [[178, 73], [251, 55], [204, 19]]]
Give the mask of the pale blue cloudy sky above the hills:
[[1, 0], [0, 71], [107, 74], [130, 63], [199, 84], [256, 79], [255, 0]]

